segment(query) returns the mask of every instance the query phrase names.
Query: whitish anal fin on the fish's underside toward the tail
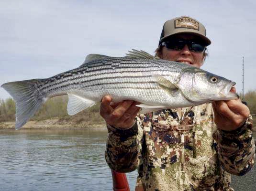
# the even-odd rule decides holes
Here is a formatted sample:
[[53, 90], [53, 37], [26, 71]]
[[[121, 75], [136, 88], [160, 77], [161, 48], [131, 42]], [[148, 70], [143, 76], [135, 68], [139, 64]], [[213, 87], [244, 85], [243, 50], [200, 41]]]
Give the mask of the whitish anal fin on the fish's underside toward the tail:
[[67, 114], [73, 116], [78, 112], [91, 107], [95, 104], [95, 101], [84, 98], [82, 96], [67, 93], [68, 102], [67, 102]]

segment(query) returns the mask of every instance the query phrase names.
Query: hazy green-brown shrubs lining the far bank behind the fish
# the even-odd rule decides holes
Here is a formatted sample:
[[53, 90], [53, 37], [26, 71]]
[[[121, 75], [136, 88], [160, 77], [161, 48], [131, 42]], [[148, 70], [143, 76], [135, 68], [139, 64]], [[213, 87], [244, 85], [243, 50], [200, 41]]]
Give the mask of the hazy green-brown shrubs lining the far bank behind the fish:
[[[248, 91], [245, 94], [245, 101], [251, 114], [256, 114], [256, 91]], [[87, 121], [89, 123], [103, 123], [104, 120], [99, 114], [100, 104], [96, 104], [74, 116], [67, 115], [67, 96], [53, 97], [45, 102], [40, 110], [35, 114], [32, 120], [43, 120], [51, 117], [59, 117], [62, 119], [71, 119], [80, 123]], [[256, 116], [253, 117], [256, 125]], [[13, 99], [0, 99], [0, 122], [15, 120], [15, 103]]]

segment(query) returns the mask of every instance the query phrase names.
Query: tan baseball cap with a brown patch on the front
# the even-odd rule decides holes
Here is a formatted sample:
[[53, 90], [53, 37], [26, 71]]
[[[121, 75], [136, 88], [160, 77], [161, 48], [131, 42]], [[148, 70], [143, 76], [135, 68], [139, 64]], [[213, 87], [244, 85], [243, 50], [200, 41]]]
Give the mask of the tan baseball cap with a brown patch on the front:
[[181, 16], [165, 22], [159, 45], [164, 42], [166, 38], [178, 33], [192, 33], [200, 37], [200, 39], [205, 42], [206, 46], [211, 44], [210, 39], [206, 37], [206, 30], [202, 23], [191, 17]]

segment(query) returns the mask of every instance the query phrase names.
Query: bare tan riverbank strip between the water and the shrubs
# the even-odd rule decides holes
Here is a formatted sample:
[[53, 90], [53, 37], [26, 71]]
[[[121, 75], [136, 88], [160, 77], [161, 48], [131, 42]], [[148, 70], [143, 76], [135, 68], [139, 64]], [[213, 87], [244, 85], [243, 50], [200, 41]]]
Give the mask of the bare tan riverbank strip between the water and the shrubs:
[[[14, 129], [15, 121], [0, 122], [0, 129]], [[69, 128], [93, 128], [93, 129], [107, 129], [106, 124], [103, 121], [99, 123], [91, 124], [87, 121], [74, 121], [63, 118], [50, 118], [45, 120], [30, 120], [22, 129], [69, 129]]]

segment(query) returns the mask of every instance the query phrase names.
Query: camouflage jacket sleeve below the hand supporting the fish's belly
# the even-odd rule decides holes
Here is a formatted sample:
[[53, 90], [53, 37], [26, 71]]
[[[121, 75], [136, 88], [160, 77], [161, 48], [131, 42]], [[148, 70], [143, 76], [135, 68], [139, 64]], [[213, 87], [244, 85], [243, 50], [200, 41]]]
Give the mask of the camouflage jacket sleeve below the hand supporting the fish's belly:
[[108, 139], [105, 158], [112, 170], [131, 172], [136, 170], [141, 157], [143, 129], [141, 119], [135, 118], [134, 126], [120, 129], [107, 125]]

